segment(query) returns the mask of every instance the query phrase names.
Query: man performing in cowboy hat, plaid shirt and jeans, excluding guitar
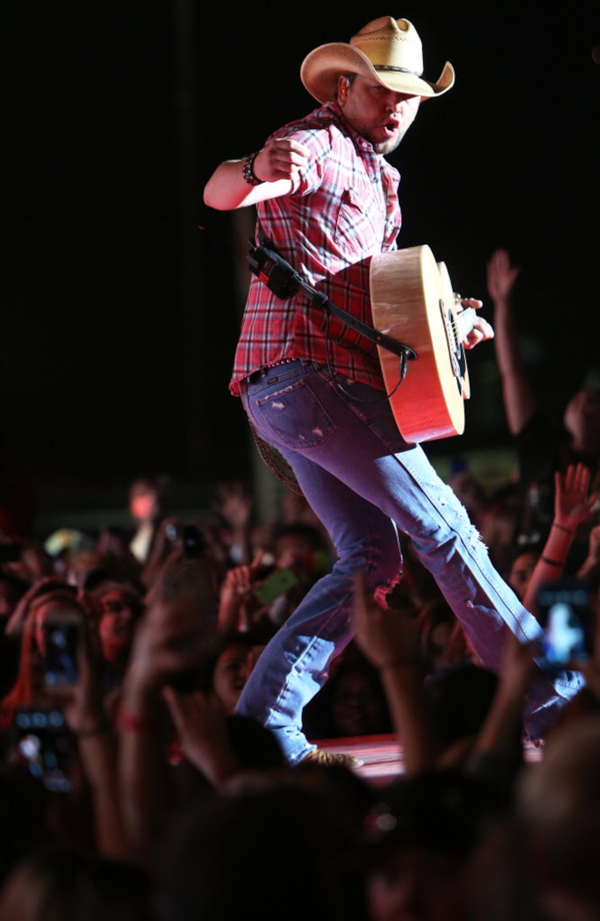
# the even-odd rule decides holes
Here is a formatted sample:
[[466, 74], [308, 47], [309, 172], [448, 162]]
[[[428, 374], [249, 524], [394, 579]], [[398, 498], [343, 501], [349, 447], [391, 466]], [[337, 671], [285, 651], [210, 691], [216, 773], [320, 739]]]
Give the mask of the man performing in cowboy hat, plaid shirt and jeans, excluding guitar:
[[[300, 77], [321, 107], [258, 153], [222, 163], [206, 184], [211, 207], [256, 204], [258, 227], [307, 284], [370, 325], [371, 256], [394, 250], [400, 229], [399, 174], [384, 156], [421, 100], [453, 86], [451, 64], [437, 83], [422, 72], [421, 41], [406, 19], [381, 17], [348, 44], [316, 48]], [[465, 346], [492, 335], [478, 318]], [[302, 732], [302, 709], [351, 638], [356, 572], [380, 600], [397, 580], [396, 529], [410, 537], [482, 665], [499, 669], [507, 630], [523, 642], [539, 634], [452, 490], [400, 436], [372, 342], [305, 294], [280, 299], [253, 276], [230, 389], [258, 436], [291, 465], [338, 554], [265, 647], [238, 705], [276, 733], [291, 764], [319, 756]], [[581, 683], [571, 672], [553, 682], [540, 674], [524, 713], [530, 734], [541, 736]]]

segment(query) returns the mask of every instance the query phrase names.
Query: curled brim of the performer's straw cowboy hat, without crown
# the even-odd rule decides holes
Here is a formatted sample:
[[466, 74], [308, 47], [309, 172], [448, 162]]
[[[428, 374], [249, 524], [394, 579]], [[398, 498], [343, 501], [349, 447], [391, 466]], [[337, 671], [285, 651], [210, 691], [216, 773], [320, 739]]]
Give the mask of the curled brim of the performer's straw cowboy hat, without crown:
[[454, 68], [448, 61], [443, 66], [437, 83], [429, 83], [417, 74], [401, 70], [376, 70], [366, 54], [341, 41], [320, 45], [304, 58], [300, 79], [311, 96], [319, 102], [333, 102], [337, 80], [342, 74], [361, 74], [398, 93], [410, 93], [422, 99], [441, 96], [454, 83]]

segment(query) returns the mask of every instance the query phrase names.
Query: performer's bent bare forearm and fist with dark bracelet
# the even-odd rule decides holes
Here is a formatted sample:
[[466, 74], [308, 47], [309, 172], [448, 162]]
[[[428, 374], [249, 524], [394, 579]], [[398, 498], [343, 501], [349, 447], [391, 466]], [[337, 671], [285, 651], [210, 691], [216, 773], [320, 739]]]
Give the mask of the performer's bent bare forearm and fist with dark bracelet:
[[[205, 204], [218, 211], [231, 211], [287, 195], [308, 155], [308, 147], [293, 138], [279, 137], [268, 141], [254, 157], [225, 160], [206, 182]], [[244, 179], [248, 163], [256, 185]]]

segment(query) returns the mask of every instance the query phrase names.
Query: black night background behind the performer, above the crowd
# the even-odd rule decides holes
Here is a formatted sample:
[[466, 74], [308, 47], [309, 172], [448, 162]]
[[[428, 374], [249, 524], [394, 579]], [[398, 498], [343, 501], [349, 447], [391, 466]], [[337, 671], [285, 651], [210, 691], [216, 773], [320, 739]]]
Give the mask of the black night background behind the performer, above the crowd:
[[[597, 8], [7, 0], [0, 437], [41, 510], [118, 502], [142, 471], [190, 489], [250, 478], [228, 391], [248, 234], [202, 188], [316, 105], [307, 52], [379, 13], [417, 27], [425, 76], [446, 59], [457, 75], [391, 157], [400, 245], [429, 243], [454, 288], [484, 299], [507, 247], [540, 400], [559, 415], [600, 384]], [[469, 368], [465, 435], [432, 457], [510, 444], [493, 345]]]

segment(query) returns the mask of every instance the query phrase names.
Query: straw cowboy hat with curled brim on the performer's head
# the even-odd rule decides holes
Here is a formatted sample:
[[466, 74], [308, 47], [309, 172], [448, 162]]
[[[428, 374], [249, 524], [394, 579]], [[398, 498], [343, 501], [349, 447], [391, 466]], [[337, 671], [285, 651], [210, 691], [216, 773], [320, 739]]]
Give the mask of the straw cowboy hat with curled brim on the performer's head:
[[373, 19], [349, 44], [334, 41], [307, 54], [300, 67], [300, 78], [311, 96], [319, 102], [335, 99], [341, 74], [372, 77], [388, 89], [429, 99], [441, 96], [454, 83], [453, 65], [446, 61], [437, 83], [429, 83], [423, 73], [423, 50], [417, 29], [407, 19], [382, 16]]

